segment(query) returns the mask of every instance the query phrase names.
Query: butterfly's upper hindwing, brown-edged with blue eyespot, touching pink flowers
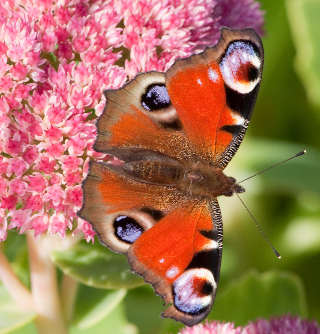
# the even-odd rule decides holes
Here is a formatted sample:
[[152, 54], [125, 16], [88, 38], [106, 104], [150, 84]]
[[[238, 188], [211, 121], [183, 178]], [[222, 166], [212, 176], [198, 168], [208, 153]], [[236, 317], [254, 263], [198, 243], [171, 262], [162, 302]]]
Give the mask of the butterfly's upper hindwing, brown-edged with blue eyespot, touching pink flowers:
[[190, 157], [195, 148], [165, 87], [164, 73], [139, 73], [117, 90], [104, 91], [106, 106], [99, 117], [93, 148], [125, 162]]

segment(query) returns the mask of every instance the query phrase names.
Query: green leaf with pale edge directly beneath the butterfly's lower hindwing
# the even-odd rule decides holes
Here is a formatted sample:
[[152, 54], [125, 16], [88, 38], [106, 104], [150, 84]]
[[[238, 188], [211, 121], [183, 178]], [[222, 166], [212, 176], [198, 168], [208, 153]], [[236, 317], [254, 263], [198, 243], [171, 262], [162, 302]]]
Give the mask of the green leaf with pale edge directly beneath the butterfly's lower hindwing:
[[62, 252], [53, 252], [51, 260], [61, 269], [83, 284], [102, 289], [132, 289], [144, 284], [133, 274], [127, 257], [116, 254], [100, 243], [85, 240]]

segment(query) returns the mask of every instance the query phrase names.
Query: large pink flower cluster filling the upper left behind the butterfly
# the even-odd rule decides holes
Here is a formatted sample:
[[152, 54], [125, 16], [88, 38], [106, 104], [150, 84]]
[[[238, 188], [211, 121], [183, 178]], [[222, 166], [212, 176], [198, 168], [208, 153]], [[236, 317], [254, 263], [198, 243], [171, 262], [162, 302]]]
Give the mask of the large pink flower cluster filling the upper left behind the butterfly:
[[215, 44], [222, 24], [260, 32], [263, 12], [253, 0], [7, 0], [0, 24], [0, 241], [14, 227], [89, 241], [76, 213], [89, 159], [109, 158], [92, 149], [103, 90]]

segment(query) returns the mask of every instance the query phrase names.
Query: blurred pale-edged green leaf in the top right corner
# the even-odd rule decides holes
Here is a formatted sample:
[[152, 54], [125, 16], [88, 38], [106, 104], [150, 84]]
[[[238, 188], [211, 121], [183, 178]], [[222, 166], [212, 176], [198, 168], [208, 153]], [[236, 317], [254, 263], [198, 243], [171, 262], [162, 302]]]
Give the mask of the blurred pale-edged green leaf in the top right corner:
[[320, 2], [287, 0], [287, 15], [297, 55], [295, 69], [312, 103], [320, 106]]

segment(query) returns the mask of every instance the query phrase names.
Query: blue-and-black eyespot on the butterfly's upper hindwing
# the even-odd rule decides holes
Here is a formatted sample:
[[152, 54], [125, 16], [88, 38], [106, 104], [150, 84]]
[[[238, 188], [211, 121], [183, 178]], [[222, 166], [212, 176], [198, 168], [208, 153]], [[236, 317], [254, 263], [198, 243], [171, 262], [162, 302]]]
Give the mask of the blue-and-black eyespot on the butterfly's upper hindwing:
[[164, 83], [152, 83], [141, 97], [141, 104], [148, 111], [167, 108], [170, 103], [168, 91]]

